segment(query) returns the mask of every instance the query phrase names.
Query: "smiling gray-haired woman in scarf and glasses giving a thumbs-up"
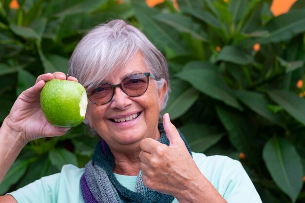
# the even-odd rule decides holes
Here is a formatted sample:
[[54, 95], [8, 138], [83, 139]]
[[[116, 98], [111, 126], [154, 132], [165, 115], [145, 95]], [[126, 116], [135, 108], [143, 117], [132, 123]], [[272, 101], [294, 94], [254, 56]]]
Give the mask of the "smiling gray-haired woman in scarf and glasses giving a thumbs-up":
[[[261, 203], [238, 161], [191, 152], [168, 114], [160, 122], [170, 90], [167, 63], [135, 27], [123, 20], [95, 27], [77, 45], [69, 74], [86, 87], [85, 122], [101, 137], [91, 161], [63, 166], [1, 203]], [[40, 110], [40, 90], [52, 78], [66, 76], [38, 76], [4, 120], [0, 180], [30, 140], [69, 129], [52, 126]]]

